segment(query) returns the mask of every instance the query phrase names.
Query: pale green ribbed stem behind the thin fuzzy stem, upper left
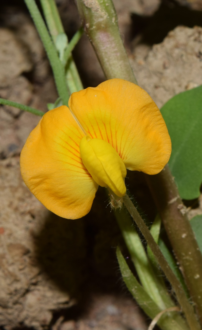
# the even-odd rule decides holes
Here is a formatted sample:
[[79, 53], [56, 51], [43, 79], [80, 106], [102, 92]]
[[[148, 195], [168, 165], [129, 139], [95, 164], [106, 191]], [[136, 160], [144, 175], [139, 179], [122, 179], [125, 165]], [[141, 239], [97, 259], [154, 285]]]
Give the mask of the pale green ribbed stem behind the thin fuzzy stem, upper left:
[[[41, 6], [43, 8], [43, 13], [46, 19], [46, 23], [54, 44], [56, 44], [57, 36], [64, 32], [63, 24], [58, 12], [58, 8], [54, 0], [40, 0]], [[79, 34], [77, 34], [77, 37]], [[64, 69], [66, 70], [66, 84], [68, 86], [70, 94], [83, 89], [83, 85], [78, 74], [76, 65], [74, 63], [73, 57], [69, 54], [67, 63], [62, 61]]]

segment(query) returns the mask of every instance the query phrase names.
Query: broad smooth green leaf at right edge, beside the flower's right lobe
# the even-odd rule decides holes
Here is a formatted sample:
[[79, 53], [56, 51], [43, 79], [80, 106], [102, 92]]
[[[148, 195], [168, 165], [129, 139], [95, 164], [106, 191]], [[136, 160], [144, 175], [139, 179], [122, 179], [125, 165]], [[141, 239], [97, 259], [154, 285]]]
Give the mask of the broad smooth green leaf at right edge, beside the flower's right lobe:
[[180, 196], [197, 198], [202, 182], [202, 86], [174, 96], [161, 113], [172, 141], [169, 167]]

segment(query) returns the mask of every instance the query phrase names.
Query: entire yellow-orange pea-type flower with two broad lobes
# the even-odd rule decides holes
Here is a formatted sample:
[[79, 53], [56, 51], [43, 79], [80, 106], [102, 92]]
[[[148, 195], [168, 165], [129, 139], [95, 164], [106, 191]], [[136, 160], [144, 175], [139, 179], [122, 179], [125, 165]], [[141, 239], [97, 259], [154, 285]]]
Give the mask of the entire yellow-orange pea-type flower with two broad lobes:
[[159, 173], [171, 142], [164, 119], [138, 85], [111, 79], [75, 92], [69, 108], [47, 112], [20, 157], [25, 184], [47, 209], [64, 218], [86, 215], [98, 185], [126, 192], [126, 168]]

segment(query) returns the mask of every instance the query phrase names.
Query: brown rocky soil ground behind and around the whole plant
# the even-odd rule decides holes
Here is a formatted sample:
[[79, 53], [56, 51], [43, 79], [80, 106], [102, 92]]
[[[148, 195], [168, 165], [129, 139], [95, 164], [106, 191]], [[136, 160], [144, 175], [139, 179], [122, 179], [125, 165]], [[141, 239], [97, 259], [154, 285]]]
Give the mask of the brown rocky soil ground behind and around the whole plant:
[[[71, 0], [57, 3], [71, 38], [80, 24], [76, 7]], [[139, 85], [159, 107], [202, 84], [201, 1], [115, 0], [114, 5]], [[57, 93], [23, 1], [1, 3], [0, 22], [0, 97], [46, 111]], [[85, 87], [105, 79], [87, 37], [74, 57]], [[146, 330], [149, 320], [120, 278], [115, 247], [123, 242], [103, 190], [89, 215], [65, 220], [47, 211], [22, 181], [20, 150], [39, 119], [0, 107], [1, 330]], [[140, 204], [142, 191], [149, 201], [143, 177], [130, 179]], [[194, 205], [190, 217], [202, 213], [201, 198]], [[154, 216], [149, 202], [146, 212]]]

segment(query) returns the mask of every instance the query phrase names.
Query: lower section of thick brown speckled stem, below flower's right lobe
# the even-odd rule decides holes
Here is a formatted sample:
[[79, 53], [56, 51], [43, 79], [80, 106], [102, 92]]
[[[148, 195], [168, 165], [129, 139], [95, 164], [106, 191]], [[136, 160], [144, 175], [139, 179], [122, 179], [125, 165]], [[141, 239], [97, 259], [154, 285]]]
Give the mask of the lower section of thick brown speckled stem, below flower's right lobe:
[[168, 165], [146, 176], [180, 269], [202, 321], [202, 255]]

